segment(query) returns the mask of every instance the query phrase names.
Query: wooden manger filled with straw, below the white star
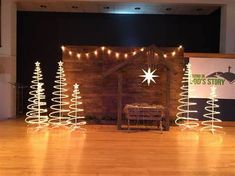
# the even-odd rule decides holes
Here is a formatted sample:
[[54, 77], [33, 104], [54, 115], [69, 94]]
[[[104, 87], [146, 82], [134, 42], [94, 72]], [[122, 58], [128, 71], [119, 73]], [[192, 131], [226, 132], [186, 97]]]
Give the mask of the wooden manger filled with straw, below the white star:
[[159, 128], [162, 131], [162, 121], [164, 119], [164, 107], [161, 105], [147, 104], [127, 104], [124, 107], [124, 113], [128, 121], [128, 130], [131, 120], [159, 121]]

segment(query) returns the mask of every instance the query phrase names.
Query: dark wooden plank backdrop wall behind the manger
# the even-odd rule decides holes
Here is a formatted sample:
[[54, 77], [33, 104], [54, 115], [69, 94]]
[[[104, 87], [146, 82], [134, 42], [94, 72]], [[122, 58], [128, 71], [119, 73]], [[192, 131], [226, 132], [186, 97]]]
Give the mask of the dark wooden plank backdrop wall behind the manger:
[[[103, 77], [103, 73], [117, 64], [123, 63], [126, 59], [120, 56], [115, 58], [114, 54], [108, 55], [107, 52], [98, 50], [98, 55], [90, 54], [89, 57], [78, 59], [76, 53], [94, 51], [99, 47], [95, 46], [66, 46], [63, 53], [64, 68], [68, 83], [69, 94], [71, 95], [72, 85], [78, 83], [83, 101], [85, 115], [96, 117], [111, 116], [117, 117], [117, 95], [118, 95], [118, 72], [123, 76], [122, 102], [123, 106], [127, 103], [166, 103], [166, 79], [167, 73], [163, 65], [157, 65], [156, 73], [160, 76], [156, 78], [156, 84], [141, 83], [143, 78], [142, 69], [147, 70], [148, 62], [146, 51], [133, 59], [130, 64], [122, 67], [118, 72]], [[140, 48], [112, 47], [117, 52], [130, 52]], [[174, 68], [170, 72], [170, 107], [169, 114], [171, 119], [175, 119], [180, 93], [181, 80], [183, 75], [183, 50], [177, 48], [161, 48], [163, 53], [170, 53], [176, 50], [176, 56], [168, 56], [166, 61]], [[69, 55], [72, 51], [73, 55]]]

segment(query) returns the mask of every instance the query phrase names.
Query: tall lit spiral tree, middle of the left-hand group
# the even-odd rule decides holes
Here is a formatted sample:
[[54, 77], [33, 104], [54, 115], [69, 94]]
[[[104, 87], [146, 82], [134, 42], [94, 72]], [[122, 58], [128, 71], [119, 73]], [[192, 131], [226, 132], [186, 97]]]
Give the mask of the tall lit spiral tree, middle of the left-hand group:
[[58, 70], [56, 72], [56, 80], [54, 89], [55, 91], [52, 93], [53, 98], [51, 99], [54, 104], [51, 105], [51, 112], [49, 114], [50, 120], [49, 123], [55, 126], [64, 126], [68, 125], [68, 109], [65, 109], [69, 102], [66, 101], [66, 99], [69, 97], [65, 93], [67, 92], [67, 89], [65, 88], [67, 86], [64, 68], [63, 68], [63, 62], [58, 62]]

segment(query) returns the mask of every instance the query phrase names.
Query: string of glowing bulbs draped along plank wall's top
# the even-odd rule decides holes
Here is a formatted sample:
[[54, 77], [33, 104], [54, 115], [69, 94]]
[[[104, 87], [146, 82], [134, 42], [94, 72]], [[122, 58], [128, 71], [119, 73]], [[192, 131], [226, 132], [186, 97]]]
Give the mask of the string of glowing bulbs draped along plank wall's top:
[[[177, 54], [177, 51], [180, 51], [182, 49], [182, 45], [180, 45], [176, 50], [169, 52], [169, 53], [163, 53], [163, 57], [167, 58], [167, 57], [174, 57]], [[86, 57], [89, 58], [90, 55], [94, 55], [94, 56], [98, 56], [99, 52], [101, 51], [102, 53], [107, 53], [108, 55], [114, 55], [114, 57], [118, 58], [125, 58], [127, 59], [130, 56], [135, 56], [136, 54], [140, 53], [140, 52], [144, 52], [146, 50], [145, 47], [142, 47], [140, 49], [134, 50], [134, 51], [130, 51], [130, 52], [117, 52], [112, 50], [111, 48], [108, 47], [99, 47], [94, 49], [91, 52], [73, 52], [69, 49], [67, 49], [65, 46], [61, 46], [61, 50], [62, 52], [67, 52], [70, 56], [76, 56], [78, 59], [82, 58], [82, 57]], [[155, 53], [158, 54], [158, 53]]]

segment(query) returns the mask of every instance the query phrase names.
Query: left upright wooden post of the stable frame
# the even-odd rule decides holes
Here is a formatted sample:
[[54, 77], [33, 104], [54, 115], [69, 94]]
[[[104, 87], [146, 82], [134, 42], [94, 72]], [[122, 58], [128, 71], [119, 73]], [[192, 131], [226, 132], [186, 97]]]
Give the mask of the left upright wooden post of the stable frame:
[[117, 129], [121, 129], [122, 123], [122, 73], [118, 73], [118, 102], [117, 102]]

